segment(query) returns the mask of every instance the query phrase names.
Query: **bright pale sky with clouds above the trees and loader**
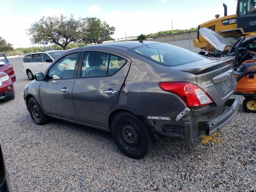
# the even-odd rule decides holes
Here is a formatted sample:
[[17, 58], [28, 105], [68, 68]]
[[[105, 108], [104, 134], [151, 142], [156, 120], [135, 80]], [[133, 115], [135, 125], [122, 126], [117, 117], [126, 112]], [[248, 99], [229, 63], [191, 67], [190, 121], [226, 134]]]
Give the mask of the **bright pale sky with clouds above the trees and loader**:
[[116, 27], [113, 38], [149, 34], [159, 30], [186, 29], [223, 16], [222, 3], [227, 4], [228, 14], [235, 14], [235, 0], [0, 0], [0, 36], [17, 47], [32, 46], [26, 35], [32, 22], [42, 16], [64, 14], [74, 17], [98, 17]]

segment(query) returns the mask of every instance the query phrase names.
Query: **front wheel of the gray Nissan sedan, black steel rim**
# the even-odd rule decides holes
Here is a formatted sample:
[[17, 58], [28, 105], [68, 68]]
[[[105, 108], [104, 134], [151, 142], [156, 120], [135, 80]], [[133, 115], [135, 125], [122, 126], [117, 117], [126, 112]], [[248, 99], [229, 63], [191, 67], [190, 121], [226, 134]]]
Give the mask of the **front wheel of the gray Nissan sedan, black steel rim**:
[[28, 100], [28, 111], [34, 122], [38, 125], [46, 124], [50, 120], [34, 97]]

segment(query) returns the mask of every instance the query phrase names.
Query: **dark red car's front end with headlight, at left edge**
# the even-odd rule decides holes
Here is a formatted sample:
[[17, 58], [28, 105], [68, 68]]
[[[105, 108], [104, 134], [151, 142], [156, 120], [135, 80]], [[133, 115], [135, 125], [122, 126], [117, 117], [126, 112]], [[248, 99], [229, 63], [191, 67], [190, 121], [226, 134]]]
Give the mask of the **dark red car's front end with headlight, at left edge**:
[[14, 86], [10, 76], [0, 71], [0, 100], [14, 99]]

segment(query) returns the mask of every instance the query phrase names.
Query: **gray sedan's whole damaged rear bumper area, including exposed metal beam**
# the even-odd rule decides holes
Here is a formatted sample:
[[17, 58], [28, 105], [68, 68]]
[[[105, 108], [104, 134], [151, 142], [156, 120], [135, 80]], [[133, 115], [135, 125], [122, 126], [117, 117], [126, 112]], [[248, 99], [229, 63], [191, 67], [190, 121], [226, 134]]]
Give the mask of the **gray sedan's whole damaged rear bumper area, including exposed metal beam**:
[[154, 134], [192, 141], [202, 134], [213, 134], [220, 130], [236, 115], [239, 97], [228, 99], [223, 106], [215, 104], [192, 108], [181, 118], [145, 118]]

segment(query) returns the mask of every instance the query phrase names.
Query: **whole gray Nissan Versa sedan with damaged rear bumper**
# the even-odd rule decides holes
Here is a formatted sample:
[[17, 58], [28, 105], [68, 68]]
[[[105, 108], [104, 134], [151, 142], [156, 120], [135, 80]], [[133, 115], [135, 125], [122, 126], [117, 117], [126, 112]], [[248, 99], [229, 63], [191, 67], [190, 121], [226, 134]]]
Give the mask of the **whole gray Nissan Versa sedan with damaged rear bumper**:
[[141, 158], [159, 135], [191, 141], [232, 119], [233, 59], [149, 41], [87, 46], [36, 74], [24, 100], [36, 124], [54, 117], [110, 131], [124, 154]]

